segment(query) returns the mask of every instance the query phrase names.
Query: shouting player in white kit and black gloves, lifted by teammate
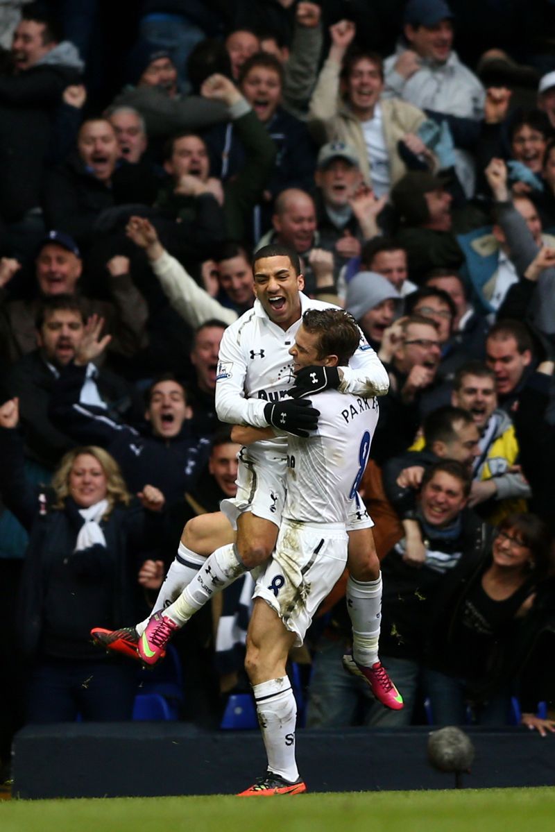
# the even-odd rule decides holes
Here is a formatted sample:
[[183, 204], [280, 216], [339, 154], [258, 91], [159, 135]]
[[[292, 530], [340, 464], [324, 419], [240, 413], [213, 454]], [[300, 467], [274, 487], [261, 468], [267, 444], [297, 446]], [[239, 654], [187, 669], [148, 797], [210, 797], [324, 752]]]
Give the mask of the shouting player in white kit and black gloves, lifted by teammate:
[[[295, 253], [282, 245], [265, 246], [255, 254], [254, 276], [255, 306], [225, 330], [221, 343], [216, 380], [219, 417], [233, 424], [255, 428], [273, 425], [282, 433], [308, 436], [316, 427], [318, 411], [309, 400], [295, 397], [310, 390], [335, 388], [354, 393], [360, 408], [377, 408], [374, 397], [387, 392], [387, 374], [362, 338], [349, 366], [306, 367], [295, 380], [290, 349], [301, 316], [307, 309], [330, 307], [302, 293], [304, 280]], [[294, 398], [286, 398], [294, 381]], [[348, 408], [345, 414], [345, 419], [351, 418]], [[367, 457], [366, 453], [359, 459], [360, 477]], [[285, 502], [285, 439], [252, 443], [241, 449], [239, 459], [237, 496], [221, 504], [221, 513], [187, 523], [154, 615], [123, 631], [94, 629], [92, 635], [102, 646], [128, 654], [136, 646], [142, 661], [155, 664], [165, 654], [166, 644], [178, 626], [214, 592], [268, 560]], [[403, 706], [402, 699], [378, 659], [381, 577], [369, 532], [372, 525], [354, 487], [348, 524], [347, 597], [354, 628], [349, 670], [364, 677], [379, 701], [398, 710]], [[231, 526], [236, 527], [236, 540]], [[180, 595], [181, 612], [184, 608], [187, 612], [176, 622], [166, 615], [165, 608]]]

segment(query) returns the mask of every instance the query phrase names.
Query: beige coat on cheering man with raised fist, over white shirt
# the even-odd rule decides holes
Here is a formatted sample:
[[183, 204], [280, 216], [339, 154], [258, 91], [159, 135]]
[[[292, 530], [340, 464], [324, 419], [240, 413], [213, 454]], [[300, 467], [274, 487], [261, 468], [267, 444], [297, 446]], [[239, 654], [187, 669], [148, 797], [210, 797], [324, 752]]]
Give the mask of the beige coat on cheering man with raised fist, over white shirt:
[[[364, 181], [372, 184], [364, 133], [360, 121], [349, 110], [339, 96], [339, 63], [328, 59], [318, 77], [315, 91], [310, 100], [308, 127], [320, 144], [326, 141], [345, 141], [354, 147], [360, 159], [360, 171]], [[404, 161], [397, 151], [397, 143], [406, 133], [418, 130], [426, 116], [422, 110], [398, 98], [382, 98], [385, 146], [389, 153], [389, 174], [391, 185], [407, 172]]]

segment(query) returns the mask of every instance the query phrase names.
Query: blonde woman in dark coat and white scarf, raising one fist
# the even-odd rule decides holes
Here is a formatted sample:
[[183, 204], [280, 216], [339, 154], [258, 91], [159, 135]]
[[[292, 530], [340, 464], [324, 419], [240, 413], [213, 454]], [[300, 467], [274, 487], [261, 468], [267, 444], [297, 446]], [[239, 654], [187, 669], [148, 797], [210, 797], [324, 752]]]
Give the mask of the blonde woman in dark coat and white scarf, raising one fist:
[[131, 499], [116, 461], [95, 446], [68, 451], [37, 495], [25, 478], [17, 410], [17, 399], [0, 407], [0, 492], [30, 535], [18, 626], [25, 721], [131, 719], [136, 667], [99, 653], [89, 631], [136, 616], [140, 552], [156, 547], [164, 498], [146, 485], [142, 505]]

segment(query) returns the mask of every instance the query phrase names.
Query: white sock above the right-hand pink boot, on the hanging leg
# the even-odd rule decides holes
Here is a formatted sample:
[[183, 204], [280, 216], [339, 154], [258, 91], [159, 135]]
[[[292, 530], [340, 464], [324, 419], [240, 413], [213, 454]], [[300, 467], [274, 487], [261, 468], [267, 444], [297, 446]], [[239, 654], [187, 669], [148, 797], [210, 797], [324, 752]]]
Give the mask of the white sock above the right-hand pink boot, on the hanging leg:
[[347, 581], [347, 609], [353, 627], [353, 658], [371, 667], [378, 661], [382, 608], [382, 574], [375, 581]]

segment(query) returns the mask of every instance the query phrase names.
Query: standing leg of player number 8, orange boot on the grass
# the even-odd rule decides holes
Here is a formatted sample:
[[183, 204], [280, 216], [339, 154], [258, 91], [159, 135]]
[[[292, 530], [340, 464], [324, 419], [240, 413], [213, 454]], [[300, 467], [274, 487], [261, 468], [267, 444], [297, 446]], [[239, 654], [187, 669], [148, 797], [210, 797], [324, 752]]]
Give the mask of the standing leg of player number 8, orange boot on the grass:
[[298, 795], [306, 790], [295, 761], [297, 706], [287, 656], [296, 634], [285, 629], [278, 613], [255, 598], [246, 640], [245, 670], [255, 696], [256, 712], [268, 757], [268, 770], [241, 797]]

